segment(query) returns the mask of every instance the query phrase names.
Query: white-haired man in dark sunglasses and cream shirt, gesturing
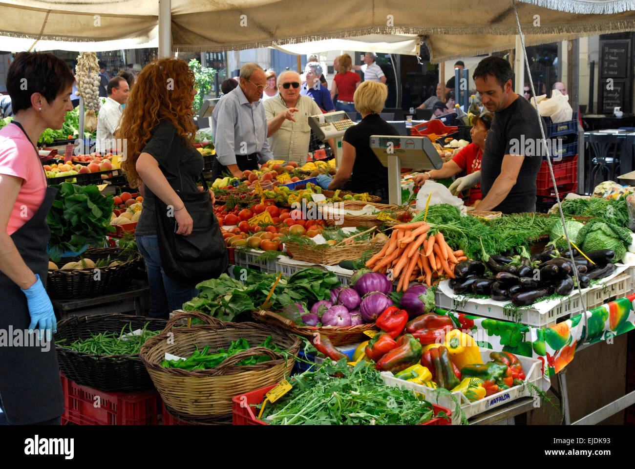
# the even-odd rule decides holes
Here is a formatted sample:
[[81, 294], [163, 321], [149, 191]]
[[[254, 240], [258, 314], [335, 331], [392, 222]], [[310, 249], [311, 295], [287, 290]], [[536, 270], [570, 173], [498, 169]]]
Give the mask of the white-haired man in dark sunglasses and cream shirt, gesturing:
[[282, 72], [278, 77], [278, 90], [280, 95], [264, 104], [271, 151], [276, 160], [295, 161], [302, 166], [307, 161], [311, 140], [309, 116], [321, 111], [314, 100], [300, 95], [297, 72]]

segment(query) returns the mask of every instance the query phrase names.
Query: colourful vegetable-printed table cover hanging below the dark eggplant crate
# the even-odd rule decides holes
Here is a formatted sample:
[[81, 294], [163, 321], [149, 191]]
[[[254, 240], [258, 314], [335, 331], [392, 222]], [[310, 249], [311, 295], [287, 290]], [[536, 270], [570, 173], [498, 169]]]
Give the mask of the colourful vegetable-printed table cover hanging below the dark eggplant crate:
[[457, 311], [445, 313], [460, 323], [460, 329], [471, 334], [479, 346], [537, 358], [542, 362], [545, 383], [551, 383], [551, 376], [573, 360], [577, 347], [610, 341], [612, 337], [635, 329], [634, 300], [635, 294], [631, 294], [587, 311], [589, 331], [585, 339], [582, 339], [586, 332], [582, 314], [552, 327], [539, 328]]

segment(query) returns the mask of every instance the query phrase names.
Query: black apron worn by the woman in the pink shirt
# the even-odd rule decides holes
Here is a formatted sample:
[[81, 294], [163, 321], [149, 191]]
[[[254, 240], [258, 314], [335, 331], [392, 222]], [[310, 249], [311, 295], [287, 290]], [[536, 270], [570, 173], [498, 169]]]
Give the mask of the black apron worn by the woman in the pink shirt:
[[[48, 274], [46, 243], [50, 237], [46, 215], [55, 200], [55, 194], [57, 189], [47, 187], [44, 201], [37, 212], [11, 235], [23, 261], [33, 273], [39, 275], [44, 287]], [[0, 329], [4, 329], [6, 334], [10, 326], [14, 331], [29, 329], [27, 297], [2, 272], [0, 298]], [[8, 340], [13, 341], [13, 337], [8, 337]], [[0, 405], [9, 423], [39, 423], [58, 418], [64, 413], [64, 393], [55, 343], [47, 343], [48, 351], [43, 351], [38, 341], [34, 341], [34, 344], [31, 347], [0, 347]]]

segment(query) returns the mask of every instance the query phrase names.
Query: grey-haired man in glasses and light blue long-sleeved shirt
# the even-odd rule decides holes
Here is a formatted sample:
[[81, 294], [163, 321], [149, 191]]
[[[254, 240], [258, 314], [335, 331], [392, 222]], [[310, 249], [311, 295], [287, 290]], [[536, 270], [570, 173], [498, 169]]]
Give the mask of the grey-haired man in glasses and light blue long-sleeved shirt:
[[267, 142], [267, 118], [260, 98], [267, 88], [265, 71], [255, 62], [243, 65], [239, 85], [224, 95], [211, 114], [216, 160], [212, 177], [225, 169], [234, 177], [257, 170], [258, 160], [271, 160]]

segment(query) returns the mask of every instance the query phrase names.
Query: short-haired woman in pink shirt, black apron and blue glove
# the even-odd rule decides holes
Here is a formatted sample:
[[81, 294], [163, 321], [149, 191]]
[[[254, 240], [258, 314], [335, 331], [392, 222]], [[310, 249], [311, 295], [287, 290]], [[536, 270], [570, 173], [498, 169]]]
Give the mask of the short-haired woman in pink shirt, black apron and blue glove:
[[45, 289], [46, 215], [57, 190], [46, 184], [36, 144], [44, 129], [62, 128], [74, 81], [50, 53], [21, 52], [7, 72], [15, 118], [0, 130], [0, 424], [56, 425], [64, 412]]

